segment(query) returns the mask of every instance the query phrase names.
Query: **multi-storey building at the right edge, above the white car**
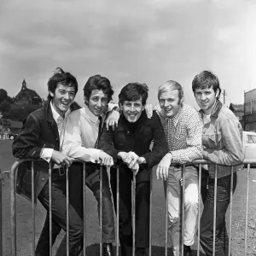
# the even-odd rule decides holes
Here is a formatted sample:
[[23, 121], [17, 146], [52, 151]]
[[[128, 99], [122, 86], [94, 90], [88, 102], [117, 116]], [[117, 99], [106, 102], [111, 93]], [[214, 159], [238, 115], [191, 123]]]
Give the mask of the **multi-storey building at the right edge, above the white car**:
[[256, 131], [256, 89], [244, 92], [244, 131]]

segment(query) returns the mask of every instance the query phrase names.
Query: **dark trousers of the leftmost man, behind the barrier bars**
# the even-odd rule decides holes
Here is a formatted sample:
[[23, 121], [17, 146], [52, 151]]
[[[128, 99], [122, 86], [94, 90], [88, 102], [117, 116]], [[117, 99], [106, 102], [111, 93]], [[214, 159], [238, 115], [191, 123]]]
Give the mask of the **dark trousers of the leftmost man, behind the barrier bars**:
[[[67, 207], [66, 207], [66, 176], [53, 177], [51, 189], [52, 203], [52, 242], [55, 242], [56, 236], [61, 229], [67, 231]], [[49, 182], [38, 195], [38, 200], [47, 211], [41, 236], [36, 248], [37, 255], [49, 255]], [[79, 255], [83, 249], [83, 220], [71, 204], [69, 210], [69, 252], [71, 255]], [[66, 244], [67, 237], [63, 238], [61, 244]], [[61, 246], [59, 247], [61, 249]], [[66, 255], [66, 247], [57, 251], [56, 256]]]

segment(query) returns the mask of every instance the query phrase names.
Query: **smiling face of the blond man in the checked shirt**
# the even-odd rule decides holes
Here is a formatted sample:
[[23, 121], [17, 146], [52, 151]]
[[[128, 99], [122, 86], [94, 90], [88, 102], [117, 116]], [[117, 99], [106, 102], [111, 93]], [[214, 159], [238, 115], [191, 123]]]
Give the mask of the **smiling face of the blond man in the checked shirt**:
[[181, 108], [183, 96], [181, 99], [178, 96], [178, 90], [164, 91], [159, 96], [160, 108], [166, 118], [172, 118]]

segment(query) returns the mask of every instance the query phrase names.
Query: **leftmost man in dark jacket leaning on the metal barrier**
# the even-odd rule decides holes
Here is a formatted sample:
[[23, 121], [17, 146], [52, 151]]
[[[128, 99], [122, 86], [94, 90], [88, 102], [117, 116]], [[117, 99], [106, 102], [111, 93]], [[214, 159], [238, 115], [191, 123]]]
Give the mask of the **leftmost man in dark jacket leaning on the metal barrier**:
[[[49, 161], [52, 163], [52, 243], [61, 228], [67, 230], [66, 208], [66, 167], [73, 159], [63, 154], [67, 116], [73, 110], [73, 100], [78, 91], [77, 79], [71, 73], [57, 68], [48, 82], [48, 102], [28, 115], [20, 134], [13, 143], [13, 154], [20, 159], [39, 159], [44, 162], [34, 163], [35, 203], [42, 203], [47, 211], [44, 229], [38, 241], [36, 255], [49, 255]], [[32, 199], [31, 163], [20, 166], [17, 174], [16, 191]], [[82, 250], [83, 221], [72, 205], [69, 205], [69, 249], [70, 255], [79, 255]], [[66, 240], [66, 237], [64, 238]], [[57, 252], [57, 256], [63, 256]]]

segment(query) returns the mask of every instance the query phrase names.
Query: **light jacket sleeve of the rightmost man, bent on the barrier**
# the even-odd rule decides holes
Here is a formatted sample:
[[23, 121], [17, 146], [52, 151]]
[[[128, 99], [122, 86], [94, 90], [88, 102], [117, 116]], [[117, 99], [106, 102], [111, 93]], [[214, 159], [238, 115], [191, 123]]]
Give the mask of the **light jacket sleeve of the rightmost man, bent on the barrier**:
[[241, 125], [236, 119], [224, 119], [221, 123], [222, 149], [204, 148], [203, 157], [218, 165], [236, 166], [244, 160], [241, 142]]

